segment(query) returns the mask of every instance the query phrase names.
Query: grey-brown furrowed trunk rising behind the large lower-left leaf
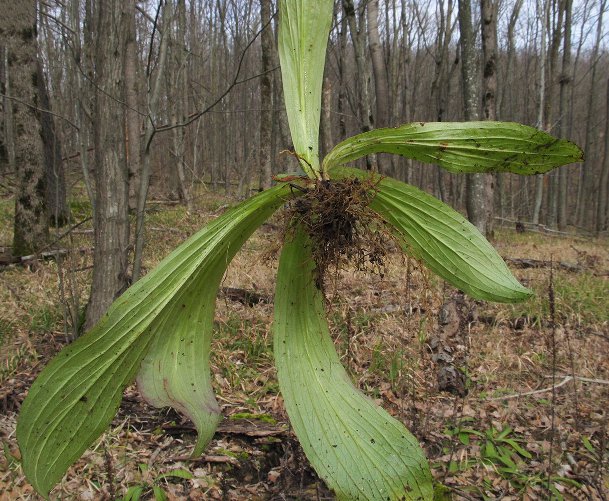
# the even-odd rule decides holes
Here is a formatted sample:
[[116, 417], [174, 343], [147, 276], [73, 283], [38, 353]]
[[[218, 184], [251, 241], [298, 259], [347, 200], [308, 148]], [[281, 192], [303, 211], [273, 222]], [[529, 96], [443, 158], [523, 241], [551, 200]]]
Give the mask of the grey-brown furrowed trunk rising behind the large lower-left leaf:
[[[120, 0], [100, 2], [94, 112], [96, 227], [85, 331], [127, 289], [129, 174], [125, 150], [124, 54], [128, 22]], [[103, 89], [103, 90], [102, 90]]]

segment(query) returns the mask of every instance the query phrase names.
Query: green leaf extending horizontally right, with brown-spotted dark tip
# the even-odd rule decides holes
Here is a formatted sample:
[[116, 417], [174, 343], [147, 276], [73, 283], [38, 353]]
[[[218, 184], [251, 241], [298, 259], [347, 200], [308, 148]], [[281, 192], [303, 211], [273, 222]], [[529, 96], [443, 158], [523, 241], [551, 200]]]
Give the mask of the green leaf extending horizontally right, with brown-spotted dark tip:
[[358, 134], [336, 145], [323, 168], [369, 153], [395, 153], [449, 172], [538, 174], [583, 161], [571, 141], [512, 122], [414, 122]]

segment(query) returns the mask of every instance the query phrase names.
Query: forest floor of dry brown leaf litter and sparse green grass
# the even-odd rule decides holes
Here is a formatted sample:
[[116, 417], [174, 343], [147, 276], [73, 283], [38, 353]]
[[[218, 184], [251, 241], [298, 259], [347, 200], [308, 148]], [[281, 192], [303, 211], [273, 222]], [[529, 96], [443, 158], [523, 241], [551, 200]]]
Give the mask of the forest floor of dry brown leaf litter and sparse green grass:
[[[12, 203], [0, 202], [0, 245], [11, 241]], [[147, 268], [228, 203], [205, 198], [196, 213], [151, 203]], [[88, 210], [72, 204], [77, 221]], [[211, 371], [224, 420], [205, 454], [187, 462], [192, 424], [128, 387], [52, 499], [333, 499], [290, 429], [273, 367], [276, 263], [259, 258], [277, 231], [276, 221], [262, 226], [222, 282]], [[59, 263], [0, 268], [0, 501], [42, 499], [21, 472], [15, 424], [33, 379], [65, 345], [69, 308], [86, 302], [93, 233], [83, 224], [68, 240]], [[396, 253], [384, 277], [350, 272], [333, 287], [336, 349], [357, 387], [418, 438], [445, 499], [607, 501], [607, 243], [499, 228], [493, 244], [535, 292], [528, 302], [472, 300]]]

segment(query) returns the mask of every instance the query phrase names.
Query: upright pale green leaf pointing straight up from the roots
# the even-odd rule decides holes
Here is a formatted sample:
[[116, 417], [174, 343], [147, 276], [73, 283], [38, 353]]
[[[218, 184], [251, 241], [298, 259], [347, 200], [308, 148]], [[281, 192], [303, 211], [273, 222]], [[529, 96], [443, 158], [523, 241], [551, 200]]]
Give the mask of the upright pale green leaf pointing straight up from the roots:
[[[333, 2], [280, 0], [278, 50], [287, 120], [303, 170], [320, 178], [319, 117]], [[307, 163], [308, 162], [308, 163]]]

